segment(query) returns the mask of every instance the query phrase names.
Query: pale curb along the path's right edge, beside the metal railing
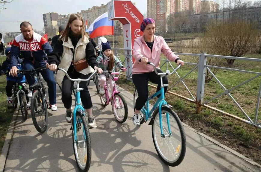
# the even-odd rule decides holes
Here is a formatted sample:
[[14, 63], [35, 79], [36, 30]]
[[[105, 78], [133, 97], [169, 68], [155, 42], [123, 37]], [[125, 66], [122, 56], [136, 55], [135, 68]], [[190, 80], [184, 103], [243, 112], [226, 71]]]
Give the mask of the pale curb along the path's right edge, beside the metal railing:
[[[120, 86], [118, 86], [118, 85], [117, 85], [117, 87], [118, 87], [119, 89], [124, 90], [125, 92], [128, 92], [127, 90], [123, 89], [122, 87], [120, 87]], [[128, 94], [132, 95], [130, 92], [128, 92]], [[125, 96], [126, 96], [126, 95], [125, 95]], [[131, 98], [131, 97], [129, 97], [129, 96], [126, 96], [126, 97], [130, 98], [131, 100], [133, 100], [133, 98]], [[199, 134], [200, 136], [206, 138], [207, 140], [213, 142], [213, 143], [216, 144], [217, 146], [222, 147], [223, 149], [225, 149], [225, 150], [229, 151], [230, 153], [234, 154], [235, 156], [238, 156], [239, 158], [241, 158], [241, 159], [243, 159], [243, 160], [249, 162], [250, 164], [254, 165], [255, 167], [258, 167], [259, 169], [261, 169], [261, 165], [258, 164], [257, 162], [254, 162], [252, 159], [249, 159], [249, 158], [245, 157], [244, 155], [242, 155], [241, 153], [238, 153], [237, 151], [235, 151], [235, 150], [233, 150], [233, 149], [231, 149], [231, 148], [225, 146], [224, 144], [221, 144], [220, 142], [216, 141], [215, 139], [213, 139], [213, 138], [211, 138], [211, 137], [209, 137], [209, 136], [207, 136], [207, 135], [205, 135], [205, 134], [203, 134], [203, 133], [198, 132], [196, 129], [190, 127], [189, 125], [187, 125], [187, 124], [185, 124], [185, 123], [183, 123], [183, 122], [182, 122], [182, 125], [183, 125], [184, 127], [187, 127], [189, 130], [191, 130], [191, 131], [193, 131], [193, 132]]]

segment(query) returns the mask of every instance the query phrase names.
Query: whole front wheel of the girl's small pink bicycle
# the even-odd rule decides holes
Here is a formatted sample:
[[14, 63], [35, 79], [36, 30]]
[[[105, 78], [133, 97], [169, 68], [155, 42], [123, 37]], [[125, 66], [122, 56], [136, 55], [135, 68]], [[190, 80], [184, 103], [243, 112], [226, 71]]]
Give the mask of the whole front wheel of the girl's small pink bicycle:
[[112, 100], [112, 109], [116, 120], [119, 123], [124, 123], [128, 117], [128, 106], [122, 94], [117, 93], [114, 95], [114, 100]]

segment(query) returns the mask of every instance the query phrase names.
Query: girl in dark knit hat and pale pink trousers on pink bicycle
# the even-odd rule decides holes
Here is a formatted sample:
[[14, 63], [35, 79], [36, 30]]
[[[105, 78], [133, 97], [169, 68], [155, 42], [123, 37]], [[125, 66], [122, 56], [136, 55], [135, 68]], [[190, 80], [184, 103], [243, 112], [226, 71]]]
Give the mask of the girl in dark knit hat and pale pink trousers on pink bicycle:
[[[115, 72], [114, 65], [116, 65], [123, 71], [126, 71], [127, 69], [124, 68], [122, 63], [116, 58], [116, 56], [113, 55], [112, 48], [110, 46], [110, 42], [107, 41], [105, 43], [101, 43], [101, 45], [102, 45], [102, 52], [97, 57], [97, 60], [96, 60], [98, 62], [98, 65], [100, 66], [100, 68], [103, 71], [108, 71], [109, 73], [112, 73], [112, 72]], [[104, 94], [104, 83], [106, 82], [107, 74], [108, 73], [103, 73], [100, 76], [101, 88], [99, 90], [99, 93], [101, 95]], [[109, 81], [110, 81], [111, 91], [113, 91], [113, 80], [111, 78], [109, 78]]]

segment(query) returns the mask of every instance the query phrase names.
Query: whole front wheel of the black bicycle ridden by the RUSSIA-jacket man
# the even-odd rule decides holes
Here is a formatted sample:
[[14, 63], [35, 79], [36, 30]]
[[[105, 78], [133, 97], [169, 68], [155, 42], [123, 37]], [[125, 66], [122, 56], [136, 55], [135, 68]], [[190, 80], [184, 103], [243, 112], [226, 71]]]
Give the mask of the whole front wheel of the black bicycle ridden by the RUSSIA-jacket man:
[[41, 93], [36, 90], [31, 98], [31, 114], [34, 126], [40, 133], [45, 132], [48, 123], [47, 104], [44, 108], [44, 103]]

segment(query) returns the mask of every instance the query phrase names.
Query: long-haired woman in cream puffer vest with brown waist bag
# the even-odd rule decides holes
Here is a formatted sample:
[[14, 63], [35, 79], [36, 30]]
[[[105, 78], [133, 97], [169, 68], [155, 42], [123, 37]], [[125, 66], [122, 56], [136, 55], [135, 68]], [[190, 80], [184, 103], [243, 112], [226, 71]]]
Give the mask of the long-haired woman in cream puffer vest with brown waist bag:
[[[81, 78], [87, 79], [94, 69], [99, 73], [102, 69], [98, 67], [96, 62], [96, 55], [94, 47], [88, 39], [83, 27], [83, 19], [79, 14], [71, 14], [68, 20], [64, 33], [60, 36], [58, 42], [55, 44], [54, 50], [49, 54], [47, 67], [55, 71], [57, 66], [67, 71], [69, 76], [73, 79]], [[81, 71], [76, 71], [72, 65], [74, 53], [74, 61], [77, 62], [86, 59], [88, 68]], [[69, 80], [62, 71], [57, 72], [57, 83], [62, 84], [61, 100], [66, 108], [66, 120], [72, 121], [72, 88], [73, 81]], [[84, 109], [88, 114], [89, 127], [96, 128], [96, 122], [92, 115], [91, 96], [87, 87], [88, 83], [80, 82], [79, 87], [83, 88], [80, 91], [80, 96]]]

